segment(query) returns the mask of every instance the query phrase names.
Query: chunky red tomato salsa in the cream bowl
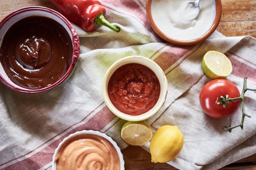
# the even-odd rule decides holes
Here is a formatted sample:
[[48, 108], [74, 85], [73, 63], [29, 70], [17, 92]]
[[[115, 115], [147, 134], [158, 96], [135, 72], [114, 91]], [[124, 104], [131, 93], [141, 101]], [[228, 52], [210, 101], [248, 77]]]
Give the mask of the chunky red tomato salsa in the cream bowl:
[[155, 106], [160, 83], [155, 73], [142, 64], [126, 64], [109, 79], [108, 94], [112, 104], [128, 115], [141, 115]]

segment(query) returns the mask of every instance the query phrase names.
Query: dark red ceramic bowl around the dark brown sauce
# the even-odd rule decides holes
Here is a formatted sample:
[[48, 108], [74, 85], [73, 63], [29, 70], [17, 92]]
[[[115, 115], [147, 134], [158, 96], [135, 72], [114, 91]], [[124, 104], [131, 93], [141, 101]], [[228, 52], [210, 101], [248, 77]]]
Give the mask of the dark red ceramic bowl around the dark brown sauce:
[[[69, 38], [72, 41], [72, 45], [71, 45], [72, 49], [70, 50], [73, 51], [72, 56], [70, 56], [72, 57], [72, 61], [68, 68], [68, 71], [56, 83], [42, 89], [32, 90], [32, 89], [25, 89], [23, 87], [19, 87], [18, 85], [13, 83], [10, 80], [10, 78], [7, 76], [6, 72], [4, 71], [2, 64], [0, 64], [0, 81], [2, 81], [2, 83], [4, 83], [7, 87], [10, 87], [11, 89], [18, 92], [43, 93], [58, 87], [72, 75], [80, 55], [80, 42], [79, 42], [78, 34], [74, 30], [74, 28], [72, 27], [68, 19], [66, 19], [63, 15], [61, 15], [57, 11], [54, 11], [53, 9], [39, 7], [39, 6], [21, 8], [21, 9], [18, 9], [17, 11], [10, 13], [8, 16], [6, 16], [0, 22], [0, 40], [4, 38], [5, 33], [14, 23], [16, 23], [21, 19], [24, 19], [26, 17], [31, 17], [31, 16], [43, 16], [43, 17], [48, 17], [50, 19], [53, 19], [54, 21], [60, 23], [60, 25], [62, 25], [64, 29], [67, 31]], [[0, 47], [1, 47], [1, 44], [2, 44], [2, 41], [0, 41]]]

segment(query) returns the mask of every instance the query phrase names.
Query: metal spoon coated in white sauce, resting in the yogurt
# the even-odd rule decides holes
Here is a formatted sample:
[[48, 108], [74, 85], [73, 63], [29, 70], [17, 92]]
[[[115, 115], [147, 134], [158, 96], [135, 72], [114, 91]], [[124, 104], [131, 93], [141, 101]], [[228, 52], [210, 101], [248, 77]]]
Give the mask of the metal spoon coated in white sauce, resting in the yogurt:
[[195, 0], [182, 4], [178, 9], [180, 19], [184, 22], [191, 22], [196, 19], [200, 12], [199, 2], [200, 0]]

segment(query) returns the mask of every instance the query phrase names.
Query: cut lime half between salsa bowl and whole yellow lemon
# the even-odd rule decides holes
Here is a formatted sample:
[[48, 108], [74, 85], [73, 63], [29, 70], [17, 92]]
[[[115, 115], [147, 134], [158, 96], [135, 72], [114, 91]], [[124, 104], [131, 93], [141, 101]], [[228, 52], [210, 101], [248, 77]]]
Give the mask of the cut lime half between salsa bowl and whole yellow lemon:
[[122, 127], [121, 136], [128, 144], [141, 146], [150, 141], [153, 132], [149, 124], [145, 121], [128, 121]]

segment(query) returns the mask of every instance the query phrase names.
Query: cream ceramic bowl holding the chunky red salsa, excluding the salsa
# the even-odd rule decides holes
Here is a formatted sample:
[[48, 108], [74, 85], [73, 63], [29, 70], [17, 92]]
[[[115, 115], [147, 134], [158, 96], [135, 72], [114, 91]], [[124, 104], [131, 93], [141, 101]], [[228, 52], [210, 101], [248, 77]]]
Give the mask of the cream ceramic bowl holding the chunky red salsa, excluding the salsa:
[[[158, 99], [157, 103], [155, 104], [155, 106], [151, 110], [147, 111], [146, 113], [143, 113], [141, 115], [136, 115], [136, 116], [128, 115], [128, 114], [123, 113], [123, 112], [119, 111], [118, 109], [116, 109], [116, 107], [112, 104], [111, 100], [109, 99], [109, 94], [108, 94], [108, 84], [109, 84], [109, 79], [112, 76], [112, 74], [120, 66], [123, 66], [125, 64], [130, 64], [130, 63], [142, 64], [142, 65], [150, 68], [157, 76], [159, 83], [160, 83], [160, 88], [161, 88], [160, 96], [159, 96], [159, 99]], [[157, 111], [159, 111], [160, 108], [163, 106], [166, 96], [167, 96], [167, 79], [166, 79], [166, 76], [165, 76], [165, 73], [163, 72], [163, 70], [153, 60], [148, 59], [146, 57], [135, 56], [135, 55], [129, 56], [129, 57], [124, 57], [124, 58], [114, 62], [114, 64], [112, 64], [112, 66], [109, 68], [109, 70], [107, 70], [107, 72], [103, 78], [102, 93], [103, 93], [103, 98], [105, 100], [105, 103], [107, 104], [109, 109], [115, 115], [117, 115], [118, 117], [120, 117], [124, 120], [127, 120], [127, 121], [142, 121], [142, 120], [148, 119], [149, 117], [155, 115], [155, 113], [157, 113]]]

